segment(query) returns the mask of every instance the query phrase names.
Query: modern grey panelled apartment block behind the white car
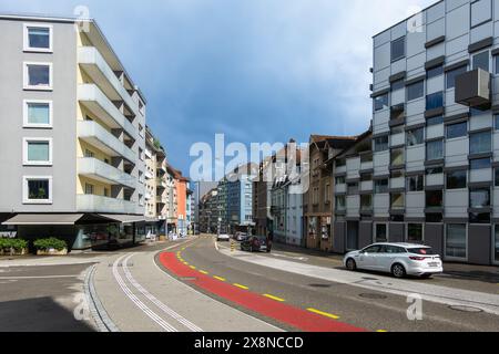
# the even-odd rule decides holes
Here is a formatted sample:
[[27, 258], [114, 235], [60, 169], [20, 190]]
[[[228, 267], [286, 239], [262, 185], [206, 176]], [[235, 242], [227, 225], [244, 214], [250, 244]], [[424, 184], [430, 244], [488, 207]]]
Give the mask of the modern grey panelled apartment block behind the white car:
[[368, 190], [348, 185], [369, 174], [346, 156], [345, 250], [424, 242], [447, 261], [498, 264], [498, 23], [497, 1], [446, 0], [374, 37], [373, 216], [357, 210]]

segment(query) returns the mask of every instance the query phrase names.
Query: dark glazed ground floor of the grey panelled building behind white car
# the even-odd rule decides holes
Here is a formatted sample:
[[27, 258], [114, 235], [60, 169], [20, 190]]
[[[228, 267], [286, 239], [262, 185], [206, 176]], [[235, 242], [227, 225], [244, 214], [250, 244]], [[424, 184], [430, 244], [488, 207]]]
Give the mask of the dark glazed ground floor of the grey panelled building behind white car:
[[[499, 221], [499, 220], [498, 220]], [[334, 252], [345, 253], [375, 242], [410, 242], [430, 246], [445, 261], [499, 266], [499, 222], [469, 223], [449, 220], [391, 222], [340, 220], [334, 225]]]

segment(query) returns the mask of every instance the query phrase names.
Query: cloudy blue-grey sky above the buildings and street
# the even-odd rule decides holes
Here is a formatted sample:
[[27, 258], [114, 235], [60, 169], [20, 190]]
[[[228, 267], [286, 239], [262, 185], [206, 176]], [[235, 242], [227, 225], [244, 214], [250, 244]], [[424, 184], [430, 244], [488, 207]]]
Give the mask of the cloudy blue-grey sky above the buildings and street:
[[0, 0], [0, 12], [84, 4], [144, 92], [147, 124], [189, 174], [190, 147], [356, 135], [371, 105], [371, 37], [436, 0]]

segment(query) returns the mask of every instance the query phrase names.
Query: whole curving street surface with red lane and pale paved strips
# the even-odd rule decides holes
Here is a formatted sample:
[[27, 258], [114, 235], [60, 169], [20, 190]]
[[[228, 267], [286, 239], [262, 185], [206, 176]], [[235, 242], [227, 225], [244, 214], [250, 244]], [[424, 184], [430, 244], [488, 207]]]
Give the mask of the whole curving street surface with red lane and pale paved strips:
[[[246, 253], [201, 236], [61, 259], [73, 263], [64, 267], [50, 259], [43, 267], [1, 261], [1, 330], [499, 331], [497, 270], [465, 278], [456, 264], [435, 279], [396, 280], [348, 272], [335, 257], [275, 249]], [[422, 320], [410, 321], [415, 295]]]

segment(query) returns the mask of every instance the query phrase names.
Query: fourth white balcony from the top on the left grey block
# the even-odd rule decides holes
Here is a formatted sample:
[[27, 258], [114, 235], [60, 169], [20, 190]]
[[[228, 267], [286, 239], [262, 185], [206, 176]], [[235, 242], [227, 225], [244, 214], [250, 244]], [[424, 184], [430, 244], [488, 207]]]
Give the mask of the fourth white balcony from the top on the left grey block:
[[120, 185], [133, 189], [136, 187], [135, 177], [92, 157], [78, 160], [78, 174], [110, 185]]

